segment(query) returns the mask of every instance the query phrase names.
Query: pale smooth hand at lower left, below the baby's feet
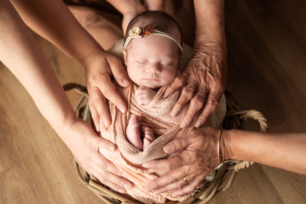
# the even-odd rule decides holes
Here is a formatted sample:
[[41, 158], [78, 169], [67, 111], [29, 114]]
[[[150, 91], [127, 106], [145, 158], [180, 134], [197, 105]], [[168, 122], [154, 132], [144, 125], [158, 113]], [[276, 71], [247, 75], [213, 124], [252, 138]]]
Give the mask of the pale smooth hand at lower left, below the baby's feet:
[[132, 188], [132, 183], [122, 177], [122, 172], [99, 153], [99, 147], [114, 151], [115, 145], [96, 135], [87, 122], [75, 118], [58, 134], [83, 167], [100, 182], [121, 193], [125, 193], [125, 188]]

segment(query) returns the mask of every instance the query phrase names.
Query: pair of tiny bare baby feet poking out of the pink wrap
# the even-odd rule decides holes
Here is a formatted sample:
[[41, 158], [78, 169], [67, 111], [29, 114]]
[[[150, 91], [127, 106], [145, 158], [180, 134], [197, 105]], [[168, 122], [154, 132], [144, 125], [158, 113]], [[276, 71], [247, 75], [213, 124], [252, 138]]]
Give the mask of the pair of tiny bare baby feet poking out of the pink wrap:
[[155, 137], [153, 135], [153, 131], [143, 125], [141, 127], [141, 130], [144, 133], [144, 141], [142, 141], [140, 138], [139, 122], [140, 116], [133, 115], [129, 120], [129, 124], [126, 127], [125, 133], [126, 140], [132, 145], [134, 145], [136, 148], [138, 148], [139, 151], [142, 151], [155, 140]]

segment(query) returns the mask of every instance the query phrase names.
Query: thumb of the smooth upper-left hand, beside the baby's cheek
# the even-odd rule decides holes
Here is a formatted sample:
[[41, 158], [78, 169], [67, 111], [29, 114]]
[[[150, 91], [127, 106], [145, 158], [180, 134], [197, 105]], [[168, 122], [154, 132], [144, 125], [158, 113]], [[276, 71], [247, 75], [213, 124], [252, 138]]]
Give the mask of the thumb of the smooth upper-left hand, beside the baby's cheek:
[[126, 73], [122, 66], [122, 62], [120, 61], [119, 57], [117, 56], [107, 57], [106, 60], [110, 66], [110, 70], [112, 71], [116, 82], [121, 87], [128, 87], [130, 85], [130, 82], [128, 80], [128, 77], [126, 76]]

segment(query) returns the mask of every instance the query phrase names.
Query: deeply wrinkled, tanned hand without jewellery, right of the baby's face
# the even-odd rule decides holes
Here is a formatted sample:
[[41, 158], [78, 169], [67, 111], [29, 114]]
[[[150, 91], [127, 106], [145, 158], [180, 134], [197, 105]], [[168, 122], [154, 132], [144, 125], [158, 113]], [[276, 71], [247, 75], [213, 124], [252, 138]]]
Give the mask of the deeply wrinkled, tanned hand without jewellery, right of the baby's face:
[[165, 91], [163, 98], [173, 94], [179, 87], [183, 89], [180, 98], [170, 110], [171, 117], [181, 112], [186, 102], [190, 106], [180, 122], [186, 128], [196, 113], [203, 108], [197, 117], [195, 127], [201, 127], [208, 117], [217, 109], [226, 83], [226, 46], [223, 43], [196, 43], [194, 54], [185, 69], [174, 83]]

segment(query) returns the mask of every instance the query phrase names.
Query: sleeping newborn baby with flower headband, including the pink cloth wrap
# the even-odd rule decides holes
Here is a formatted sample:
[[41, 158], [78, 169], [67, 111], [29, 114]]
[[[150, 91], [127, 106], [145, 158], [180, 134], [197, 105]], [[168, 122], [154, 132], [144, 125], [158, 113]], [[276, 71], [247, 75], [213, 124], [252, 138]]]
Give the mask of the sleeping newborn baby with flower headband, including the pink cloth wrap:
[[[190, 55], [186, 55], [186, 59], [182, 57], [185, 62], [179, 61], [183, 53], [181, 28], [173, 17], [162, 11], [147, 11], [136, 16], [129, 23], [127, 31], [129, 32], [125, 36], [123, 58], [131, 85], [124, 88], [115, 80], [113, 83], [128, 110], [123, 114], [113, 103], [107, 102], [112, 124], [109, 128], [101, 124], [100, 135], [118, 148], [114, 152], [99, 148], [99, 152], [133, 183], [132, 189], [125, 189], [133, 198], [148, 204], [163, 203], [167, 199], [182, 201], [194, 195], [196, 191], [181, 196], [172, 196], [171, 191], [160, 195], [146, 192], [145, 186], [151, 180], [164, 175], [166, 171], [147, 169], [141, 165], [152, 159], [169, 158], [179, 154], [181, 151], [167, 154], [162, 147], [194, 129], [195, 119], [187, 128], [179, 127], [179, 121], [187, 112], [190, 102], [186, 103], [177, 117], [170, 116], [170, 110], [180, 97], [183, 87], [168, 98], [162, 98], [167, 87], [180, 74], [180, 69], [185, 65], [183, 63], [191, 57], [192, 49], [188, 53], [186, 48], [185, 54]], [[115, 43], [114, 46], [116, 45]], [[119, 47], [121, 52], [122, 43]], [[213, 122], [208, 121], [205, 125], [220, 127], [226, 111], [224, 97], [220, 104], [222, 105], [219, 105], [209, 119]], [[214, 175], [215, 172], [211, 174], [210, 179], [206, 178], [199, 184], [197, 189], [212, 180]]]

